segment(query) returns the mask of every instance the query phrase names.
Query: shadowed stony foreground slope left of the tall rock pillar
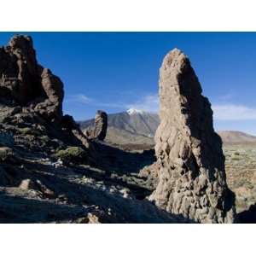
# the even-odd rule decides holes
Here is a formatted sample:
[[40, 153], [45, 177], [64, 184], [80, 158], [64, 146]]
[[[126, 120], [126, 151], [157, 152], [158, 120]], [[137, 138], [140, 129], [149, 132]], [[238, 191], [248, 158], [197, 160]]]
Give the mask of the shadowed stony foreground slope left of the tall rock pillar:
[[[108, 161], [102, 170], [84, 164], [67, 166], [40, 153], [25, 154], [19, 146], [1, 147], [0, 151], [4, 160], [0, 169], [1, 223], [188, 222], [145, 200], [150, 191], [136, 170], [152, 160], [147, 152], [125, 153], [113, 148], [113, 162]], [[102, 161], [104, 157], [102, 154]]]

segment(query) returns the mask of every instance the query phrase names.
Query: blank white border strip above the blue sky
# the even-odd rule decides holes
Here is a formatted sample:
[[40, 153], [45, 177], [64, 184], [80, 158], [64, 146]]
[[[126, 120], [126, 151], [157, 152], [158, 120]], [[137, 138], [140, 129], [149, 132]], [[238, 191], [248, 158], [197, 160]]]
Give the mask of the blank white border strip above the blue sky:
[[253, 0], [9, 0], [1, 31], [255, 31]]

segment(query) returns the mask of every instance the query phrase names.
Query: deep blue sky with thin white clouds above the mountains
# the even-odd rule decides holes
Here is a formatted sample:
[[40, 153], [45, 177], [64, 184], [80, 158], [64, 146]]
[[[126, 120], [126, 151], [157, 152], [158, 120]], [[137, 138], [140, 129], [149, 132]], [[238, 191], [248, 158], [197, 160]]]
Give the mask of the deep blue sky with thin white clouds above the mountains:
[[[21, 33], [21, 32], [19, 32]], [[0, 44], [14, 32], [1, 32]], [[256, 135], [256, 33], [247, 32], [25, 32], [38, 62], [65, 85], [64, 112], [89, 119], [139, 108], [157, 111], [159, 68], [182, 49], [212, 102], [216, 130]]]

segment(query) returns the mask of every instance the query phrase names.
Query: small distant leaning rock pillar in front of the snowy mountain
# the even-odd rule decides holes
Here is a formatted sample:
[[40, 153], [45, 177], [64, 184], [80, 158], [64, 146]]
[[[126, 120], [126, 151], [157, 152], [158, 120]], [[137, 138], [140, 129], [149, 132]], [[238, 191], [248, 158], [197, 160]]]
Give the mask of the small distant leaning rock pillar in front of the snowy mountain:
[[108, 114], [102, 110], [96, 112], [95, 125], [84, 131], [86, 137], [103, 141], [108, 130]]

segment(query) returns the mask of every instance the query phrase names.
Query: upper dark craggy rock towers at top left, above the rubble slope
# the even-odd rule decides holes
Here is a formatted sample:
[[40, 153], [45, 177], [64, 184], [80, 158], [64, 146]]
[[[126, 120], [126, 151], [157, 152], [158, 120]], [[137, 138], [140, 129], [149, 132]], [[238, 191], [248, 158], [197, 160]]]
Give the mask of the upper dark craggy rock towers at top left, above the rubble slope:
[[1, 102], [61, 119], [63, 84], [48, 68], [38, 65], [31, 37], [11, 38], [7, 47], [0, 48], [0, 60]]

